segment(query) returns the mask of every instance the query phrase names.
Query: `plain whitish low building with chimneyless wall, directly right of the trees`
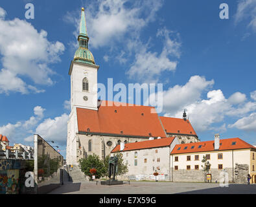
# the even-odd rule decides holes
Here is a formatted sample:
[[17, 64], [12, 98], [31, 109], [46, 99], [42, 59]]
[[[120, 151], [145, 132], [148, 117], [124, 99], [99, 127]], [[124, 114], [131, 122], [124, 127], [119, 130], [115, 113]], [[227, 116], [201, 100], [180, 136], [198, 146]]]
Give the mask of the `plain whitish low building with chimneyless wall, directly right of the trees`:
[[122, 153], [124, 164], [128, 166], [128, 173], [119, 179], [170, 181], [171, 160], [170, 152], [176, 144], [180, 144], [176, 136], [157, 138], [115, 146], [111, 153]]

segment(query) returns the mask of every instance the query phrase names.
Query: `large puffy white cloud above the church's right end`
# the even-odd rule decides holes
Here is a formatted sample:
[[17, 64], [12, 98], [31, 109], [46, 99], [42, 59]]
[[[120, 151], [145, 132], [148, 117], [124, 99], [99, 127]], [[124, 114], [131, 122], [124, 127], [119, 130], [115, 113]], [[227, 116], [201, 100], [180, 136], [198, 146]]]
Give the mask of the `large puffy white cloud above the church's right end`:
[[[183, 109], [186, 109], [196, 131], [224, 132], [226, 117], [243, 118], [256, 110], [256, 102], [246, 101], [245, 94], [237, 92], [227, 99], [220, 89], [210, 91], [213, 84], [214, 80], [192, 76], [185, 85], [174, 85], [163, 91], [164, 116], [181, 118]], [[207, 98], [202, 98], [205, 92]]]

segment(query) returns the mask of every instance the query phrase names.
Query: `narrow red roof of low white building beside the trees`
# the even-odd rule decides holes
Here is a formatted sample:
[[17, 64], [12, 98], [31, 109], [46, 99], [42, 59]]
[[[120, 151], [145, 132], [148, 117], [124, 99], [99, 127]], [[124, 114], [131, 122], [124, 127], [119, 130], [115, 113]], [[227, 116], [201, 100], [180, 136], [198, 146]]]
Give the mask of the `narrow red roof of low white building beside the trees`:
[[[174, 136], [168, 137], [168, 138], [159, 138], [156, 140], [146, 140], [143, 142], [132, 142], [128, 144], [124, 144], [124, 149], [122, 151], [131, 151], [131, 150], [138, 150], [138, 149], [148, 149], [148, 148], [156, 148], [156, 147], [166, 147], [170, 146], [172, 144], [172, 141], [174, 140]], [[115, 146], [114, 149], [112, 149], [111, 153], [115, 153], [117, 151], [120, 151], [120, 144]]]

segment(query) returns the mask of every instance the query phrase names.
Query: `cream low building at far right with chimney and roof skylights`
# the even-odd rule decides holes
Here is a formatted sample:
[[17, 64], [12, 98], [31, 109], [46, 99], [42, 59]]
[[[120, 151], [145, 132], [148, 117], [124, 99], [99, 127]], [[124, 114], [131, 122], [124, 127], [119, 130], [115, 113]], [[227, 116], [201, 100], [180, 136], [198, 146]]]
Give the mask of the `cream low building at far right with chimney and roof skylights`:
[[220, 172], [225, 170], [229, 182], [246, 183], [250, 174], [251, 183], [256, 183], [256, 147], [240, 138], [178, 144], [170, 153], [172, 160], [172, 181], [193, 180], [204, 182], [203, 157], [211, 164], [208, 174], [211, 181], [220, 180]]

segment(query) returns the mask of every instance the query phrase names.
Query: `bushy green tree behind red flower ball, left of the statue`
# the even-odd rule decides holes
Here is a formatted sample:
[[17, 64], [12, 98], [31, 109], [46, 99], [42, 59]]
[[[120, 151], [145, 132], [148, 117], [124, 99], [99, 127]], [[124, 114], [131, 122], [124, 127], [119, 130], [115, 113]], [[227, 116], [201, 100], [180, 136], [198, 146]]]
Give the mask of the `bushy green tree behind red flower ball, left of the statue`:
[[100, 177], [106, 174], [106, 168], [104, 167], [103, 160], [100, 160], [98, 155], [89, 155], [87, 158], [81, 158], [79, 161], [79, 167], [81, 168], [84, 175], [92, 177], [90, 173], [90, 169], [95, 168], [97, 169], [95, 178], [99, 179]]

